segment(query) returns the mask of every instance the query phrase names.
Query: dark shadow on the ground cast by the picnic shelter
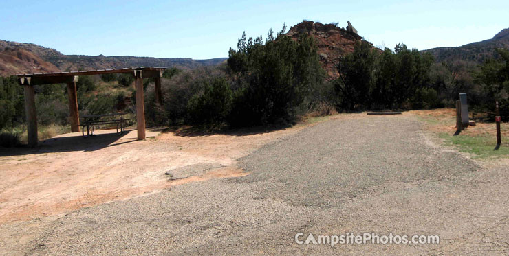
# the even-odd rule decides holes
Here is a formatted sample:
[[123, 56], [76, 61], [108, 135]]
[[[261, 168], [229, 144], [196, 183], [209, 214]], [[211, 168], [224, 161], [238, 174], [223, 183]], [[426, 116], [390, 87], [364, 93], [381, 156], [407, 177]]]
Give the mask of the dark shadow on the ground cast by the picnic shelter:
[[0, 148], [0, 156], [20, 156], [26, 154], [46, 154], [55, 152], [91, 152], [102, 148], [122, 145], [137, 139], [124, 138], [127, 132], [117, 135], [116, 132], [100, 133], [89, 137], [82, 135], [63, 135], [39, 141], [39, 146], [30, 148], [23, 145], [18, 148]]

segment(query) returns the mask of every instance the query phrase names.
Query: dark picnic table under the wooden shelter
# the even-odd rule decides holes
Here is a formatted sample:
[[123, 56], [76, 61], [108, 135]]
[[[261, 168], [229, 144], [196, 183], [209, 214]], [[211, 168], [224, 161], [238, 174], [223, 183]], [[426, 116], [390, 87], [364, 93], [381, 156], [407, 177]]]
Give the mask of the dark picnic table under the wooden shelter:
[[[96, 125], [105, 125], [105, 124], [114, 124], [117, 129], [117, 134], [120, 135], [125, 131], [126, 121], [129, 119], [124, 119], [124, 115], [127, 113], [111, 113], [104, 115], [82, 115], [80, 116], [83, 121], [80, 122], [81, 133], [83, 137], [89, 137], [90, 135], [94, 135], [94, 126]], [[85, 135], [85, 129], [87, 130], [87, 135]]]

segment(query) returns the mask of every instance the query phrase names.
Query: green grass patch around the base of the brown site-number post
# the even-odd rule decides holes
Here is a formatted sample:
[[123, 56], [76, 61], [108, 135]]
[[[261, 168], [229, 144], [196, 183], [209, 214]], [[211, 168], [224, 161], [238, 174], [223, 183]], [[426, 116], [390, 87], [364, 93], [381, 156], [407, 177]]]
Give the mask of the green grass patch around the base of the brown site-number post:
[[473, 137], [461, 134], [453, 136], [442, 132], [440, 138], [444, 139], [447, 145], [459, 148], [460, 152], [475, 154], [475, 158], [488, 159], [509, 156], [509, 143], [502, 141], [500, 148], [495, 150], [497, 144], [495, 137], [486, 135]]

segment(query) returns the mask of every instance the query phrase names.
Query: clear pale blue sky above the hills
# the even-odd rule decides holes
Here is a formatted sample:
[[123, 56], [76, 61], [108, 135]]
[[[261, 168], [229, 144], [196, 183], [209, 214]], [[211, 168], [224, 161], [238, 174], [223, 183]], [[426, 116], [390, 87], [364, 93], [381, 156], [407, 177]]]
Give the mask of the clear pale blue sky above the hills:
[[509, 27], [509, 1], [12, 1], [0, 39], [63, 54], [227, 57], [243, 31], [265, 36], [303, 19], [351, 21], [373, 45], [458, 46]]

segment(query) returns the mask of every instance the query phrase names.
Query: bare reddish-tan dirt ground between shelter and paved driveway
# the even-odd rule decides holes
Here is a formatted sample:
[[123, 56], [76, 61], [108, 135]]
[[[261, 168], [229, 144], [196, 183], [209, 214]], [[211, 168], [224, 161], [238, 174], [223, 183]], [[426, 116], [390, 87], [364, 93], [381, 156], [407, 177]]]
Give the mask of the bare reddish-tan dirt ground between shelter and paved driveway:
[[[332, 118], [355, 117], [363, 115]], [[236, 159], [328, 118], [331, 117], [279, 130], [250, 129], [224, 134], [186, 130], [159, 135], [149, 132], [146, 141], [136, 141], [136, 130], [122, 137], [106, 130], [86, 139], [73, 133], [44, 141], [36, 150], [3, 150], [0, 224], [58, 216], [193, 181], [243, 176], [246, 173], [237, 167]], [[203, 163], [221, 167], [186, 178], [171, 179], [165, 175], [169, 170]]]

